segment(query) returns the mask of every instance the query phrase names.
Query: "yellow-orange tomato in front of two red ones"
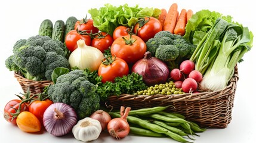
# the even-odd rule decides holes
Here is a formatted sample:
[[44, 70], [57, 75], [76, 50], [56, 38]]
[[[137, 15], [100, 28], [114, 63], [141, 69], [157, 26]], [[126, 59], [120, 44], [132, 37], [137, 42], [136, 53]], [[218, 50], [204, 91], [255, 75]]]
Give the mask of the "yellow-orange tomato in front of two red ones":
[[29, 111], [23, 111], [17, 116], [18, 128], [24, 132], [39, 132], [41, 130], [41, 123], [38, 118]]

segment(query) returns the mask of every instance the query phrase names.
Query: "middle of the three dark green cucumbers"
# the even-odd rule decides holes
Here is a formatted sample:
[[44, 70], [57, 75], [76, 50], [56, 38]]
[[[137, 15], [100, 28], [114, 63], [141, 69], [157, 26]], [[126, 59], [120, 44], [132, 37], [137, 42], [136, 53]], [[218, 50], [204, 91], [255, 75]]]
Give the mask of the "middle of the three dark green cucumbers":
[[55, 21], [55, 24], [53, 27], [53, 35], [51, 36], [51, 39], [63, 42], [64, 41], [64, 32], [65, 32], [64, 21], [63, 20]]

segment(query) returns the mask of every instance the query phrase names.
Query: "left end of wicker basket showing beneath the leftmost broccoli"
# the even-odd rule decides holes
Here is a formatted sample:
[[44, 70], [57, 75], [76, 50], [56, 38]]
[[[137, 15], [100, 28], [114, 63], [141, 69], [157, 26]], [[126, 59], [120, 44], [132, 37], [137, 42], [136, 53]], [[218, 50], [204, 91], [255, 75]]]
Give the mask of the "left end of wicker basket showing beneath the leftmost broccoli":
[[24, 93], [27, 92], [27, 89], [29, 88], [30, 94], [41, 94], [44, 91], [45, 86], [50, 85], [53, 83], [50, 80], [42, 80], [42, 81], [34, 81], [29, 80], [21, 76], [21, 74], [14, 72], [14, 77], [18, 80], [18, 83], [20, 83], [20, 86]]

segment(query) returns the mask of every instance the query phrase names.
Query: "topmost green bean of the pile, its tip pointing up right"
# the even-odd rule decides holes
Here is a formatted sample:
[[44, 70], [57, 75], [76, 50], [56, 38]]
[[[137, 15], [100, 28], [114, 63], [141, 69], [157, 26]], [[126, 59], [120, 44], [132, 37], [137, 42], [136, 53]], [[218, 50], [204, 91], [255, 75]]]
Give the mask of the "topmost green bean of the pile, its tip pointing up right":
[[133, 115], [146, 115], [146, 114], [158, 113], [159, 111], [164, 111], [166, 108], [171, 106], [172, 105], [131, 110], [129, 111], [129, 115], [133, 116]]

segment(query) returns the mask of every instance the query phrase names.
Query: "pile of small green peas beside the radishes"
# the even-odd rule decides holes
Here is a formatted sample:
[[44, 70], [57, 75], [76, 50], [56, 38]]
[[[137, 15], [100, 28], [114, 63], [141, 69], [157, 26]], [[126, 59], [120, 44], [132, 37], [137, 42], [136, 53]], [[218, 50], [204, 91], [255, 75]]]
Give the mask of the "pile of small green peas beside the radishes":
[[176, 88], [175, 83], [173, 81], [161, 83], [159, 85], [150, 86], [144, 91], [137, 91], [135, 95], [171, 95], [171, 94], [184, 94], [181, 88]]

